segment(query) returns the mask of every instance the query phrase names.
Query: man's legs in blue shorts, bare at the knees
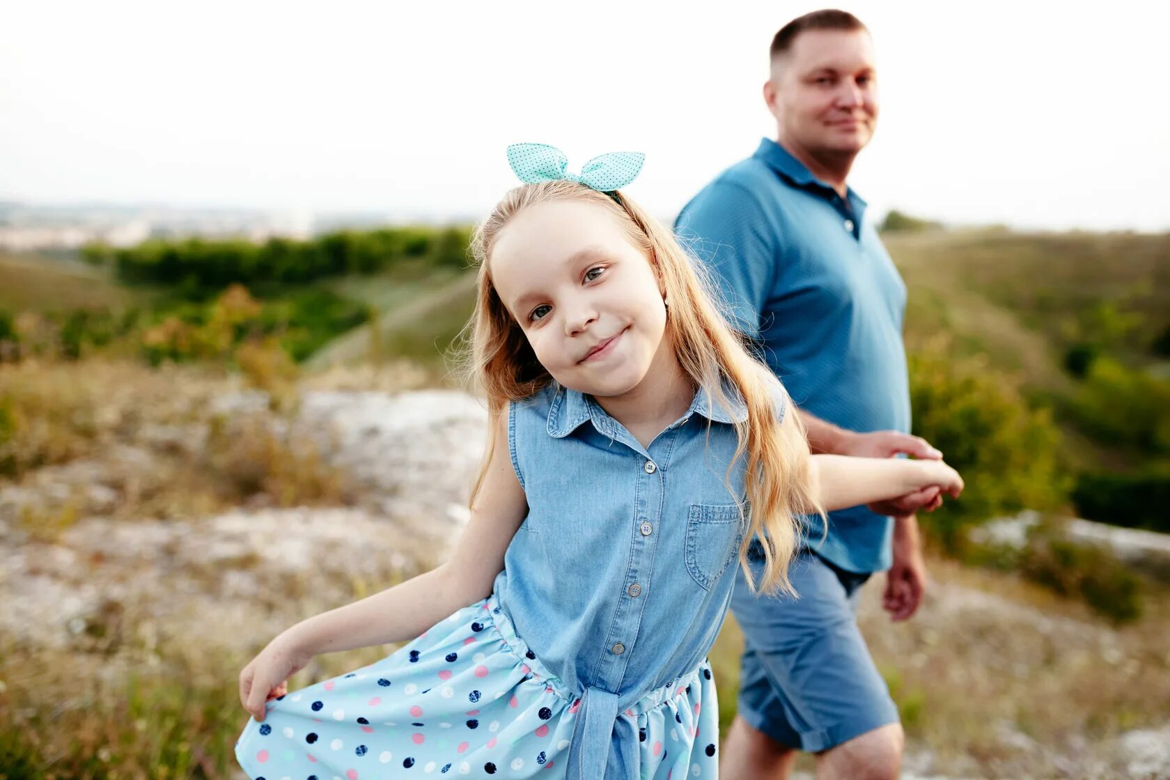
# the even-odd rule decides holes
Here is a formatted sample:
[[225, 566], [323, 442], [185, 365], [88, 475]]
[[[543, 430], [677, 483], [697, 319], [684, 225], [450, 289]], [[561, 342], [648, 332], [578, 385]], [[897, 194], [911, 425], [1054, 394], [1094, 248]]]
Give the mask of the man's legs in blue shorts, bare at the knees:
[[[759, 581], [763, 560], [749, 560]], [[771, 760], [773, 773], [757, 771], [757, 776], [783, 778], [791, 748], [799, 748], [819, 754], [818, 774], [844, 772], [825, 776], [897, 776], [897, 707], [854, 615], [852, 596], [867, 575], [838, 570], [806, 551], [790, 568], [798, 599], [756, 596], [743, 573], [737, 577], [731, 608], [745, 647], [738, 707], [749, 729], [729, 733], [731, 750], [724, 747], [721, 771], [725, 765], [728, 776], [736, 776], [737, 761]], [[736, 736], [738, 744], [731, 739]]]

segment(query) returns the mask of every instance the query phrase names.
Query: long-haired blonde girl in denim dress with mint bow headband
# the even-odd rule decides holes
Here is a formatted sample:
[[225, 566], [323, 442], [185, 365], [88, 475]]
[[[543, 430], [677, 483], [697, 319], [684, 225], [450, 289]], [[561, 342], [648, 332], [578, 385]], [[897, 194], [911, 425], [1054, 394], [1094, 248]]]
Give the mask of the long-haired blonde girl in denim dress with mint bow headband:
[[[450, 559], [276, 636], [240, 674], [253, 778], [714, 778], [706, 660], [752, 538], [787, 589], [796, 516], [962, 479], [811, 456], [700, 265], [618, 192], [509, 147], [524, 186], [477, 228], [472, 348], [493, 435]], [[750, 577], [750, 574], [749, 574]], [[755, 587], [755, 584], [753, 584]], [[314, 655], [413, 639], [287, 695]]]

